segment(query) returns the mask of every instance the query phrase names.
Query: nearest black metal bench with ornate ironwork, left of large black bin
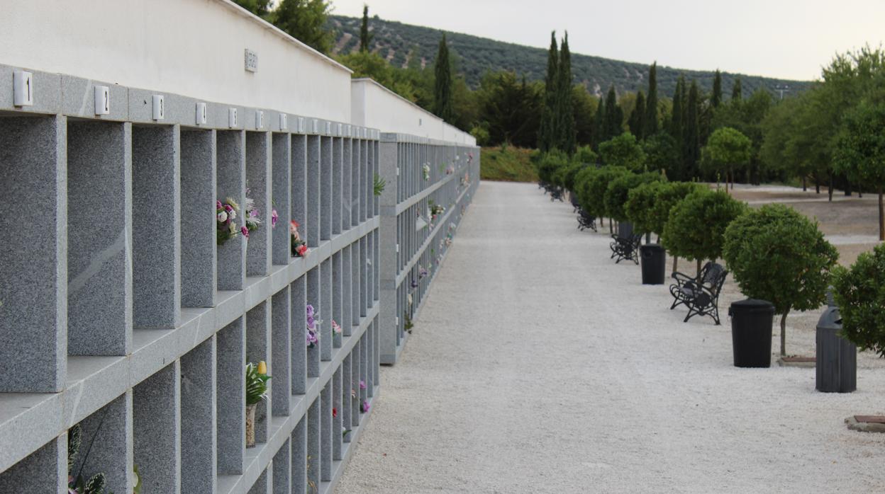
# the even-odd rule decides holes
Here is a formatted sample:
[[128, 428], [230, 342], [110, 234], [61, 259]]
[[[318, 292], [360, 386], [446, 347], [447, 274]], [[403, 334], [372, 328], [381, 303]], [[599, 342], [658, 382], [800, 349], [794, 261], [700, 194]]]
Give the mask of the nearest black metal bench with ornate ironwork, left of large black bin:
[[673, 295], [673, 305], [685, 305], [689, 308], [689, 314], [685, 315], [683, 322], [688, 322], [695, 315], [709, 315], [718, 325], [719, 318], [719, 295], [728, 271], [717, 262], [707, 262], [701, 268], [700, 283], [696, 277], [689, 277], [684, 273], [673, 273], [676, 283], [670, 285], [670, 294]]

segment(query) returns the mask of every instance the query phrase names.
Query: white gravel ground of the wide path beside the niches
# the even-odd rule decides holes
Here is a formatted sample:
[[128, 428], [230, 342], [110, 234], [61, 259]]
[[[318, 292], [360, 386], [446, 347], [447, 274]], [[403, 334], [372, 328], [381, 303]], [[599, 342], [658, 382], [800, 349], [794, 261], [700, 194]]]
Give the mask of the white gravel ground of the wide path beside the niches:
[[843, 425], [885, 413], [871, 356], [850, 394], [736, 369], [727, 316], [682, 323], [575, 225], [534, 185], [482, 183], [340, 492], [885, 490], [885, 434]]

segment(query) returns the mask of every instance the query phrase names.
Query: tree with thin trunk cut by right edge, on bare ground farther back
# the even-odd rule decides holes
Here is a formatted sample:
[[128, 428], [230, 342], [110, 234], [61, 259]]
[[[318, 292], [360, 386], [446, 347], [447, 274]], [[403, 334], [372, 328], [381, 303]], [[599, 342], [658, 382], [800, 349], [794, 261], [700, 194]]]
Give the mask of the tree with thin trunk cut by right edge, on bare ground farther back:
[[879, 194], [879, 239], [885, 240], [885, 103], [862, 101], [845, 116], [834, 158], [836, 171]]

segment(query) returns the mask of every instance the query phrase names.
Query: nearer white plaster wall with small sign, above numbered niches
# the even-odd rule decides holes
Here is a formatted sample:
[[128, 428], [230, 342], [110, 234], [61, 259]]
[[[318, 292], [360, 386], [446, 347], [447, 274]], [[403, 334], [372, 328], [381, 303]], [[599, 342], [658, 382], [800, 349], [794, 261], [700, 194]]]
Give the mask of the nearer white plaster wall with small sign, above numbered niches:
[[0, 63], [350, 121], [349, 70], [228, 0], [2, 0]]

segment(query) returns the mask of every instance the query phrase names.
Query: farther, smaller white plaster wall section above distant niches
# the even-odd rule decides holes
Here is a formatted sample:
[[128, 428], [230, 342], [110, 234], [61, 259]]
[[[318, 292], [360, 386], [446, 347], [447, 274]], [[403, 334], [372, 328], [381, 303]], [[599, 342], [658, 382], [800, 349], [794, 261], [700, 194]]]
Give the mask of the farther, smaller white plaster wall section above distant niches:
[[381, 132], [408, 133], [472, 146], [476, 144], [476, 139], [469, 133], [446, 124], [442, 118], [396, 95], [374, 80], [353, 80], [350, 102], [351, 123], [354, 125], [381, 129]]

